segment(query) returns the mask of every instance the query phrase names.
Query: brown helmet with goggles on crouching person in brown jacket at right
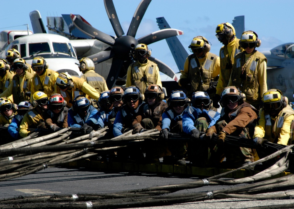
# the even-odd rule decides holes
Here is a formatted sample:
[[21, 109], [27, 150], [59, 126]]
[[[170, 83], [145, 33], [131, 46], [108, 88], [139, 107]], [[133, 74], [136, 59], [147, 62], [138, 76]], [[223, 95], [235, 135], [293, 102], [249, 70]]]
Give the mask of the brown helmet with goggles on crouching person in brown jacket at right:
[[246, 96], [244, 93], [240, 91], [240, 89], [236, 86], [228, 86], [223, 89], [220, 94], [220, 105], [225, 107], [230, 102], [235, 103], [238, 102], [238, 105], [241, 105], [245, 102]]

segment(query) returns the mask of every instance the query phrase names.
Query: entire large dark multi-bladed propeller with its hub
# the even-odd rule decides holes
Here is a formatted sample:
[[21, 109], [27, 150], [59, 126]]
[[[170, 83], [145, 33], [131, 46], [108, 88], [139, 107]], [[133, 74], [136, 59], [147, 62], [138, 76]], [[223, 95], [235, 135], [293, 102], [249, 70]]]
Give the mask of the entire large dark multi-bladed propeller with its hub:
[[[85, 21], [71, 14], [71, 20], [73, 21], [74, 25], [79, 30], [81, 30], [81, 32], [110, 45], [110, 47], [108, 47], [104, 51], [89, 56], [89, 58], [92, 59], [94, 63], [100, 63], [113, 58], [111, 68], [106, 79], [108, 88], [112, 88], [116, 83], [116, 80], [121, 80], [118, 79], [118, 76], [123, 77], [124, 75], [126, 75], [126, 69], [132, 61], [129, 54], [130, 52], [134, 51], [138, 43], [144, 43], [148, 45], [168, 37], [183, 34], [183, 31], [181, 30], [165, 29], [158, 30], [141, 38], [135, 39], [138, 27], [150, 2], [151, 0], [142, 0], [140, 2], [129, 26], [127, 35], [124, 35], [123, 29], [121, 28], [121, 24], [116, 14], [115, 7], [113, 5], [113, 1], [104, 0], [104, 5], [106, 8], [108, 18], [111, 22], [111, 25], [117, 38], [114, 38], [106, 33], [97, 30], [96, 28], [93, 28], [91, 25], [85, 23]], [[158, 68], [161, 72], [170, 76], [174, 80], [177, 80], [175, 73], [170, 67], [168, 67], [163, 62], [155, 59], [154, 57], [150, 57], [149, 59], [155, 61], [158, 64]]]

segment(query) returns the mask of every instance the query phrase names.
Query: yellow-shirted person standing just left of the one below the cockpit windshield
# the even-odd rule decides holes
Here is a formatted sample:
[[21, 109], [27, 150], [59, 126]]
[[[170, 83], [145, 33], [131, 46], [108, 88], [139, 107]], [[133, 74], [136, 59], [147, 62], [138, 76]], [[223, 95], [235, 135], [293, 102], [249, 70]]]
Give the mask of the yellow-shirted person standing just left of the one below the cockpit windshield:
[[16, 74], [8, 88], [0, 94], [0, 97], [13, 97], [13, 102], [19, 104], [22, 101], [28, 101], [31, 96], [31, 82], [33, 75], [27, 71], [24, 59], [17, 58], [13, 61], [12, 70]]

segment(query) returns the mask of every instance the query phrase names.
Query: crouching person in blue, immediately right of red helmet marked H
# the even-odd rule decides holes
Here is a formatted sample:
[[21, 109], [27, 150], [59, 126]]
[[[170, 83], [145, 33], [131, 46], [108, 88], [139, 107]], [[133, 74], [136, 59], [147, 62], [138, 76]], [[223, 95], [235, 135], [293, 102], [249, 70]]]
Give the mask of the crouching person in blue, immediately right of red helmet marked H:
[[98, 110], [90, 105], [85, 96], [78, 95], [74, 98], [73, 105], [69, 109], [67, 123], [69, 127], [81, 128], [81, 131], [86, 133], [87, 129], [92, 129], [97, 123], [97, 112]]

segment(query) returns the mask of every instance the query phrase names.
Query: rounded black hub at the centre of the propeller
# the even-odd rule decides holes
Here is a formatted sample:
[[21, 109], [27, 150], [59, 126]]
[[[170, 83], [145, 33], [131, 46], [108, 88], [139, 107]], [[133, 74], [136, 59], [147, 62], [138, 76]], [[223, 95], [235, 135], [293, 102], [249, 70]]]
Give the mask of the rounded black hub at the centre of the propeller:
[[114, 50], [114, 53], [117, 57], [122, 60], [127, 60], [129, 58], [130, 52], [135, 51], [137, 44], [139, 43], [134, 37], [125, 35], [116, 38], [112, 50]]

